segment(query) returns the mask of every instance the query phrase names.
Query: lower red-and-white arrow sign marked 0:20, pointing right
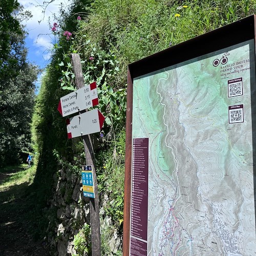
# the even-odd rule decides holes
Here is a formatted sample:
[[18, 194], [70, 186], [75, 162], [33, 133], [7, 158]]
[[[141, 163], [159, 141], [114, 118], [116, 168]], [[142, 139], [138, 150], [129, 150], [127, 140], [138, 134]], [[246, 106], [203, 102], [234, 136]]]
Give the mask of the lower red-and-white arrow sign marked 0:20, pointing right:
[[100, 132], [105, 117], [97, 109], [67, 119], [68, 138]]

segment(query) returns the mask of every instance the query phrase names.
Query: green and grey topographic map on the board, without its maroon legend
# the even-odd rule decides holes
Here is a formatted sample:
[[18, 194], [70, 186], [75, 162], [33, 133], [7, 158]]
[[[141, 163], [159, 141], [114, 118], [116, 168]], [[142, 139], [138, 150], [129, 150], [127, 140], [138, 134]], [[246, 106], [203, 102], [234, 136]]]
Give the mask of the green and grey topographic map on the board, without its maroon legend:
[[132, 136], [148, 138], [147, 255], [256, 255], [253, 48], [134, 80]]

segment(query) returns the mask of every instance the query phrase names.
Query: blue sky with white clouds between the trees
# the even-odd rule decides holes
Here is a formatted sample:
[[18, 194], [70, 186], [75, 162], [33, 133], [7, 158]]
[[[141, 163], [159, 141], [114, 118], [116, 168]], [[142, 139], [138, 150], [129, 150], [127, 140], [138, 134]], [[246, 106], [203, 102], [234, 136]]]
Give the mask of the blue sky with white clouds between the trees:
[[54, 41], [50, 31], [50, 25], [55, 22], [53, 15], [58, 13], [60, 3], [66, 5], [69, 0], [54, 0], [47, 8], [43, 7], [46, 0], [18, 0], [18, 2], [24, 6], [24, 10], [31, 11], [33, 15], [31, 19], [23, 23], [28, 32], [26, 38], [26, 47], [29, 50], [28, 59], [40, 68], [45, 68], [49, 63]]

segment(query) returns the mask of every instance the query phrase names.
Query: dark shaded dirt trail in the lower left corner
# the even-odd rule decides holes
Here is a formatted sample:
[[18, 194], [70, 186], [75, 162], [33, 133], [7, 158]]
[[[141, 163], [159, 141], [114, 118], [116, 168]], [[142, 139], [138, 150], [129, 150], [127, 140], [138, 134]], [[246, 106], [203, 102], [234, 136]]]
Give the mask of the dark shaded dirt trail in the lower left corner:
[[[0, 185], [11, 176], [11, 170], [0, 173]], [[0, 256], [47, 256], [49, 249], [42, 241], [35, 242], [31, 227], [33, 221], [30, 212], [33, 205], [26, 195], [28, 183], [13, 185], [0, 190]]]

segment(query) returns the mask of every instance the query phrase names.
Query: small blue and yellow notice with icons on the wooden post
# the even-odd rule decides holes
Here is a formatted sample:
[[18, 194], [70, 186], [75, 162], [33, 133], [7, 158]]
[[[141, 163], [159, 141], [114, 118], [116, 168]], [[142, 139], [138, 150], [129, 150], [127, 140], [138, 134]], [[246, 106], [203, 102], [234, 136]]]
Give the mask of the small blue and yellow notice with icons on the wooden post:
[[84, 197], [95, 198], [92, 165], [82, 165], [82, 190]]

